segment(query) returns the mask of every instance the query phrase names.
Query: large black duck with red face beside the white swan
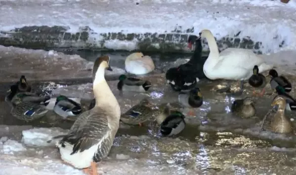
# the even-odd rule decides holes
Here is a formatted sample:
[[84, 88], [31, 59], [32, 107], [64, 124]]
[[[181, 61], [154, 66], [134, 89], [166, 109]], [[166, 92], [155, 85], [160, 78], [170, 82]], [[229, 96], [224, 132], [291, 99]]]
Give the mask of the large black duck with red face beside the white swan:
[[177, 68], [170, 68], [166, 72], [166, 79], [174, 91], [190, 90], [196, 83], [205, 78], [203, 66], [205, 59], [202, 59], [202, 41], [201, 37], [190, 35], [188, 38], [188, 47], [192, 48], [195, 43], [195, 50], [191, 59]]

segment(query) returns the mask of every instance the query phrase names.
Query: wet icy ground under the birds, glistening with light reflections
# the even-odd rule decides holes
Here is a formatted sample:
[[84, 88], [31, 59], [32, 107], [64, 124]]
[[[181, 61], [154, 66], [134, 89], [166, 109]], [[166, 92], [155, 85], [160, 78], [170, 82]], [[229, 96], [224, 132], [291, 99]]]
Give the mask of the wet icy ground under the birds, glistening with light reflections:
[[[45, 52], [42, 54], [48, 55]], [[20, 54], [20, 57], [22, 55]], [[268, 58], [269, 61], [280, 63], [282, 60], [274, 60], [279, 56], [281, 55], [275, 54]], [[293, 65], [291, 63], [294, 58], [293, 52], [281, 58], [285, 59], [286, 62], [282, 63], [286, 65], [281, 65], [277, 69], [285, 70], [285, 74], [289, 74], [288, 78], [295, 81], [295, 76], [291, 75], [295, 74], [295, 63]], [[49, 56], [48, 59], [52, 57]], [[67, 67], [69, 66], [67, 61], [69, 60], [65, 59], [65, 62], [57, 62], [56, 65]], [[75, 61], [77, 60], [71, 64], [75, 64]], [[91, 65], [84, 60], [78, 61]], [[48, 64], [53, 63], [48, 61]], [[19, 76], [21, 74], [19, 69], [28, 70], [26, 64], [24, 65], [12, 69], [17, 65], [11, 64], [11, 69], [7, 70], [16, 70], [15, 73]], [[34, 66], [34, 62], [31, 65]], [[76, 65], [69, 66], [69, 70], [78, 72], [84, 69], [85, 65], [77, 66], [78, 70], [74, 69]], [[3, 69], [4, 66], [0, 68]], [[33, 80], [43, 75], [38, 74], [37, 68], [33, 67], [32, 72], [36, 74], [32, 77]], [[70, 81], [60, 80], [56, 75], [64, 72], [59, 71], [53, 71], [52, 77], [55, 79], [53, 81], [31, 82], [36, 90], [42, 90], [43, 93], [52, 96], [63, 94], [83, 98], [82, 104], [87, 107], [93, 97], [90, 73], [85, 74], [87, 78], [79, 80], [72, 78]], [[31, 72], [27, 75], [28, 80], [31, 79], [29, 75]], [[172, 92], [166, 85], [164, 74], [155, 73], [144, 78], [153, 83], [148, 93], [124, 93], [122, 96], [116, 89], [117, 81], [108, 81], [122, 112], [144, 97], [149, 97], [155, 105], [176, 102], [177, 93]], [[293, 84], [295, 86], [295, 83]], [[98, 164], [99, 171], [104, 175], [295, 175], [296, 138], [260, 130], [260, 121], [270, 109], [274, 95], [267, 94], [263, 98], [254, 98], [258, 110], [257, 117], [243, 120], [229, 113], [231, 102], [235, 98], [242, 97], [229, 98], [224, 94], [216, 94], [214, 90], [221, 85], [222, 81], [199, 84], [204, 104], [196, 110], [196, 117], [186, 118], [186, 128], [177, 138], [160, 138], [153, 118], [142, 128], [121, 124], [109, 157]], [[46, 140], [52, 136], [67, 132], [73, 121], [61, 121], [53, 113], [33, 123], [19, 121], [9, 114], [9, 108], [3, 102], [8, 84], [2, 83], [0, 87], [0, 175], [82, 175], [82, 171], [75, 170], [60, 161], [54, 142], [46, 143]], [[251, 89], [247, 86], [243, 97], [248, 96], [250, 92]], [[270, 89], [267, 87], [267, 93], [269, 92]], [[295, 96], [295, 92], [292, 92], [292, 95]], [[187, 111], [183, 108], [180, 110]], [[291, 116], [294, 117], [295, 114], [292, 113]], [[42, 128], [35, 128], [36, 126]], [[52, 126], [55, 128], [49, 128]], [[32, 128], [35, 129], [30, 130]]]

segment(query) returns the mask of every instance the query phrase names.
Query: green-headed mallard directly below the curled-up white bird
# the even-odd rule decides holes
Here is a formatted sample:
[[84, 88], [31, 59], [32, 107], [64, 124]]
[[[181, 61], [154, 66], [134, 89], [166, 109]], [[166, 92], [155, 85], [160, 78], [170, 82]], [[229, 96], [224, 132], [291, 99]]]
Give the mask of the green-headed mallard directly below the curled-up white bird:
[[119, 76], [117, 89], [120, 91], [146, 92], [151, 86], [150, 81], [127, 77], [127, 75], [122, 74]]

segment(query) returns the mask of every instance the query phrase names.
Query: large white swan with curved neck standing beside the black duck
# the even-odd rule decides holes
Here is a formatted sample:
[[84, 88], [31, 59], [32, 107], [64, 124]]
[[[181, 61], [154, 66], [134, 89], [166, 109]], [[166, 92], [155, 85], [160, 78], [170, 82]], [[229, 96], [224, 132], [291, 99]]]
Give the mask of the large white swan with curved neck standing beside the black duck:
[[[209, 79], [240, 80], [241, 89], [235, 94], [243, 93], [244, 80], [252, 76], [255, 65], [258, 66], [260, 73], [273, 68], [249, 49], [227, 48], [219, 53], [215, 38], [209, 30], [203, 30], [199, 35], [207, 38], [210, 48], [210, 55], [204, 64], [205, 75]], [[225, 88], [229, 89], [230, 85]]]

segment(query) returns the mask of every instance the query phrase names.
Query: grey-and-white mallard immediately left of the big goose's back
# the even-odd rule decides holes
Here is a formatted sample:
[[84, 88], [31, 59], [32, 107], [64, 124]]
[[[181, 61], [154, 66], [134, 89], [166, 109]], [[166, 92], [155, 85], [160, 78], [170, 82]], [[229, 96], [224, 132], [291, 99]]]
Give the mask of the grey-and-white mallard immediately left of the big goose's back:
[[67, 118], [68, 116], [76, 116], [82, 113], [80, 104], [63, 95], [60, 95], [56, 98], [53, 110], [63, 118]]

